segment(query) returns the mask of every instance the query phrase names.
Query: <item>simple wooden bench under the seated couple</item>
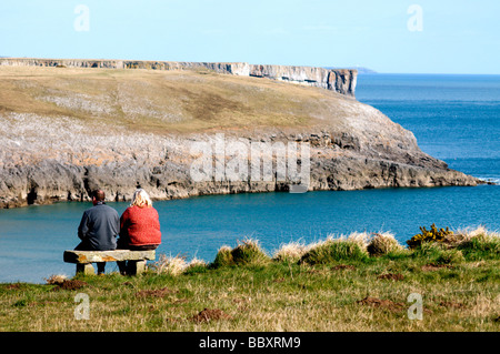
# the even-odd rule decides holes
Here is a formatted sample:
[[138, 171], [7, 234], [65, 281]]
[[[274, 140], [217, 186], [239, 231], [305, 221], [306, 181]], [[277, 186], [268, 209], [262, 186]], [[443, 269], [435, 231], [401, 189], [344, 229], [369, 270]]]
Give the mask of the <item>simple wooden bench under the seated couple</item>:
[[129, 272], [133, 275], [141, 274], [146, 271], [146, 261], [153, 261], [156, 251], [64, 251], [64, 262], [77, 264], [77, 274], [96, 274], [92, 263], [98, 262], [128, 262]]

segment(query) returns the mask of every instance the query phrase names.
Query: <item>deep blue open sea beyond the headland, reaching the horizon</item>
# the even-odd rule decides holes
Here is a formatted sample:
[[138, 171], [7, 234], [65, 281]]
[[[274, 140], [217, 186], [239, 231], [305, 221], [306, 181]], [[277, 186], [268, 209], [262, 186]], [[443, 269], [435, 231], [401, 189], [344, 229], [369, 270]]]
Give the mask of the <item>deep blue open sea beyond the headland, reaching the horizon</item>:
[[368, 74], [359, 101], [411, 130], [451, 169], [499, 181], [500, 75]]

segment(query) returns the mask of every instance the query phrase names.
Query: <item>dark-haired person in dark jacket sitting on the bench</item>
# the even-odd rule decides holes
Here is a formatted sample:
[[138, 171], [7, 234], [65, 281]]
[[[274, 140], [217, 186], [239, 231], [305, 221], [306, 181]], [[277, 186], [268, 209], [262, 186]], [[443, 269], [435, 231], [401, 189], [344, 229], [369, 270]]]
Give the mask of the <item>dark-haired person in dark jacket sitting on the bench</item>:
[[[93, 206], [83, 212], [78, 237], [78, 251], [110, 251], [117, 249], [117, 236], [120, 233], [118, 212], [104, 203], [106, 194], [98, 190], [92, 192]], [[98, 263], [98, 274], [103, 274], [106, 262]]]

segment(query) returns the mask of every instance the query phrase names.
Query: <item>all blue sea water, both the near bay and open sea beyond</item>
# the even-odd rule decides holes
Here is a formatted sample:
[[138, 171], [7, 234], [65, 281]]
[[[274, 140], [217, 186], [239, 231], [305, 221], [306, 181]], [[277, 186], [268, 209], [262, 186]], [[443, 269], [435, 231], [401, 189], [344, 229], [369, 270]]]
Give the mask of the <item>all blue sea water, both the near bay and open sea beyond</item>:
[[[420, 148], [450, 168], [500, 181], [500, 77], [363, 74], [357, 99], [411, 130]], [[304, 194], [210, 195], [157, 202], [158, 253], [212, 261], [223, 245], [258, 239], [272, 253], [291, 241], [390, 231], [404, 243], [420, 225], [500, 230], [500, 185], [384, 189]], [[110, 203], [119, 213], [126, 203]], [[62, 252], [78, 243], [89, 203], [0, 210], [0, 282], [71, 276]], [[110, 264], [107, 271], [116, 271]]]

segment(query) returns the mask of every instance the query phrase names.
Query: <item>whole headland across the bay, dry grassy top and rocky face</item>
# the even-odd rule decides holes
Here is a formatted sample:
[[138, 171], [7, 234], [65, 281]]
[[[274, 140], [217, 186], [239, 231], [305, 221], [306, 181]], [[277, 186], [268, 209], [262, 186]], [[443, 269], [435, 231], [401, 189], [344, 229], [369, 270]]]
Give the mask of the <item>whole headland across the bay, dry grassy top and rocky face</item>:
[[[130, 199], [137, 185], [157, 200], [287, 191], [297, 179], [280, 178], [272, 149], [290, 143], [310, 148], [310, 159], [296, 153], [300, 171], [310, 162], [309, 191], [479, 182], [423, 153], [411, 132], [380, 111], [336, 92], [337, 79], [333, 91], [284, 83], [279, 67], [224, 64], [218, 70], [233, 74], [220, 74], [67, 64], [0, 65], [0, 208], [86, 201], [94, 188], [113, 201]], [[307, 77], [327, 82], [329, 74], [311, 69]], [[253, 179], [239, 165], [240, 179], [229, 170], [193, 179], [203, 153], [193, 151], [197, 143], [216, 151], [210, 166], [226, 168], [234, 146], [249, 152], [262, 143], [258, 156], [271, 154], [272, 173]], [[250, 166], [250, 154], [242, 155]]]

